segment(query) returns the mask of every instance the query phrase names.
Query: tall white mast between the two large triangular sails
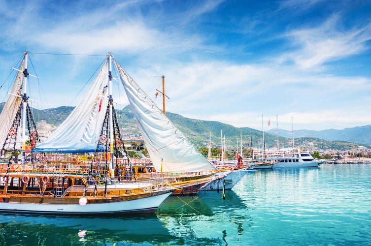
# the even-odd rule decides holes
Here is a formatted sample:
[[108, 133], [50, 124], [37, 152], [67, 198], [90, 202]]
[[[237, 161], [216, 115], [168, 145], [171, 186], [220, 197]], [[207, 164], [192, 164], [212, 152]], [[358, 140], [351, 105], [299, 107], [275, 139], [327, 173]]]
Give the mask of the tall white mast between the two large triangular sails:
[[111, 172], [111, 183], [115, 184], [115, 163], [113, 160], [113, 147], [114, 147], [114, 138], [113, 138], [113, 98], [112, 98], [112, 55], [108, 54], [108, 103], [109, 103], [109, 146], [111, 154], [111, 163], [109, 165]]

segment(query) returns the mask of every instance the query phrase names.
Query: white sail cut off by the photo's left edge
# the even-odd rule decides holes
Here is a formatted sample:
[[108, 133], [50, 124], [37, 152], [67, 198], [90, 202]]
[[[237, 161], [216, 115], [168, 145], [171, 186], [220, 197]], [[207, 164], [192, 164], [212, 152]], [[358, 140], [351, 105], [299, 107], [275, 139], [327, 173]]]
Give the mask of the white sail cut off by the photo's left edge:
[[[19, 70], [23, 71], [25, 66], [25, 58], [23, 58]], [[8, 92], [8, 98], [4, 104], [4, 107], [0, 114], [0, 143], [1, 147], [2, 144], [5, 142], [6, 137], [8, 136], [10, 127], [14, 121], [14, 118], [17, 114], [18, 108], [22, 102], [22, 81], [23, 81], [23, 73], [18, 72], [17, 76], [15, 77], [14, 83], [12, 88]], [[16, 96], [18, 95], [18, 96]], [[18, 127], [19, 133], [21, 128]], [[18, 133], [18, 136], [20, 134]], [[20, 138], [19, 138], [20, 139]]]

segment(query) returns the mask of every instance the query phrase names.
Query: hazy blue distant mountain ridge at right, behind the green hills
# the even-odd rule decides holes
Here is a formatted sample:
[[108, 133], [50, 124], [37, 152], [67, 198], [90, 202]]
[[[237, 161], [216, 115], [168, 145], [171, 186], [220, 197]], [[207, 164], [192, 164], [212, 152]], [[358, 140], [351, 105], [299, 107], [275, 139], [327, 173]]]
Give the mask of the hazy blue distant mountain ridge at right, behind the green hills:
[[[270, 129], [267, 132], [277, 134], [276, 129]], [[278, 129], [278, 135], [285, 138], [292, 138], [292, 132], [288, 130]], [[371, 125], [350, 127], [342, 130], [294, 130], [294, 138], [297, 137], [314, 137], [328, 141], [347, 141], [370, 145]]]

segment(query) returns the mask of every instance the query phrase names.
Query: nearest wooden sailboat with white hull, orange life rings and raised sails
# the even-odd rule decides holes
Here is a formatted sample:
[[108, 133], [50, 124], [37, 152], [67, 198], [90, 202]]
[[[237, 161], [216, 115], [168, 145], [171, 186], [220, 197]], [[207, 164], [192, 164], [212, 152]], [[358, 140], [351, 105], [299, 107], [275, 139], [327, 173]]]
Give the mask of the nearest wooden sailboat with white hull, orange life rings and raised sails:
[[[25, 158], [26, 116], [30, 120], [25, 110], [28, 108], [27, 59], [26, 52], [14, 82], [17, 89], [23, 78], [23, 85], [18, 86], [16, 94], [12, 90], [0, 116], [5, 119], [11, 115], [14, 119], [10, 126], [1, 121], [1, 130], [7, 129], [8, 132], [5, 138], [0, 138], [4, 141], [2, 155], [9, 151], [14, 155], [18, 151], [16, 139], [21, 122], [23, 131], [21, 165], [15, 165], [16, 158], [9, 158], [0, 169], [0, 212], [76, 215], [153, 213], [171, 194], [172, 187], [159, 181], [115, 184], [114, 161], [117, 158], [114, 154], [122, 153], [118, 148], [122, 146], [122, 140], [114, 124], [111, 54], [82, 101], [46, 141], [36, 146], [37, 131], [28, 127], [33, 149], [30, 162], [26, 162]], [[10, 111], [16, 109], [12, 105], [17, 103], [20, 106], [14, 116]], [[106, 111], [101, 110], [102, 105], [107, 105]], [[31, 125], [34, 124], [31, 122]]]

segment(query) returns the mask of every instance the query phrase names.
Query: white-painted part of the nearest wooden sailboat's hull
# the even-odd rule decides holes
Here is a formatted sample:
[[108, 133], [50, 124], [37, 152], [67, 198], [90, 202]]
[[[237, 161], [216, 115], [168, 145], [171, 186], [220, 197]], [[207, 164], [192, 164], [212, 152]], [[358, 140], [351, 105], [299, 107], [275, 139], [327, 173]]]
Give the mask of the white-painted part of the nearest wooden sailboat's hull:
[[[87, 203], [80, 204], [44, 204], [44, 203], [17, 203], [0, 202], [0, 212], [31, 213], [31, 214], [66, 214], [66, 215], [104, 215], [104, 214], [138, 214], [154, 213], [160, 204], [171, 194], [171, 190], [164, 194], [144, 197], [129, 201]], [[53, 198], [58, 203], [61, 199]], [[58, 201], [59, 200], [59, 201]]]

